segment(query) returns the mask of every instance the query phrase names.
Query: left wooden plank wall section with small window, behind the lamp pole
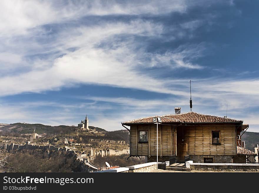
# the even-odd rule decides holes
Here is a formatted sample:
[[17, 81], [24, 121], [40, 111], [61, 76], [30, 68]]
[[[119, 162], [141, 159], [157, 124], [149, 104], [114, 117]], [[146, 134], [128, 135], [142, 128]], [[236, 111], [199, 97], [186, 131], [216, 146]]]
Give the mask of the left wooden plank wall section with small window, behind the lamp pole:
[[[138, 143], [138, 131], [149, 131], [149, 143]], [[169, 156], [176, 152], [176, 130], [170, 125], [158, 125], [158, 155]], [[130, 127], [130, 155], [155, 156], [157, 155], [157, 125], [139, 124]], [[161, 140], [162, 139], [162, 140]], [[162, 145], [162, 149], [161, 149]], [[171, 154], [172, 148], [172, 154]], [[137, 153], [136, 153], [137, 149]]]

